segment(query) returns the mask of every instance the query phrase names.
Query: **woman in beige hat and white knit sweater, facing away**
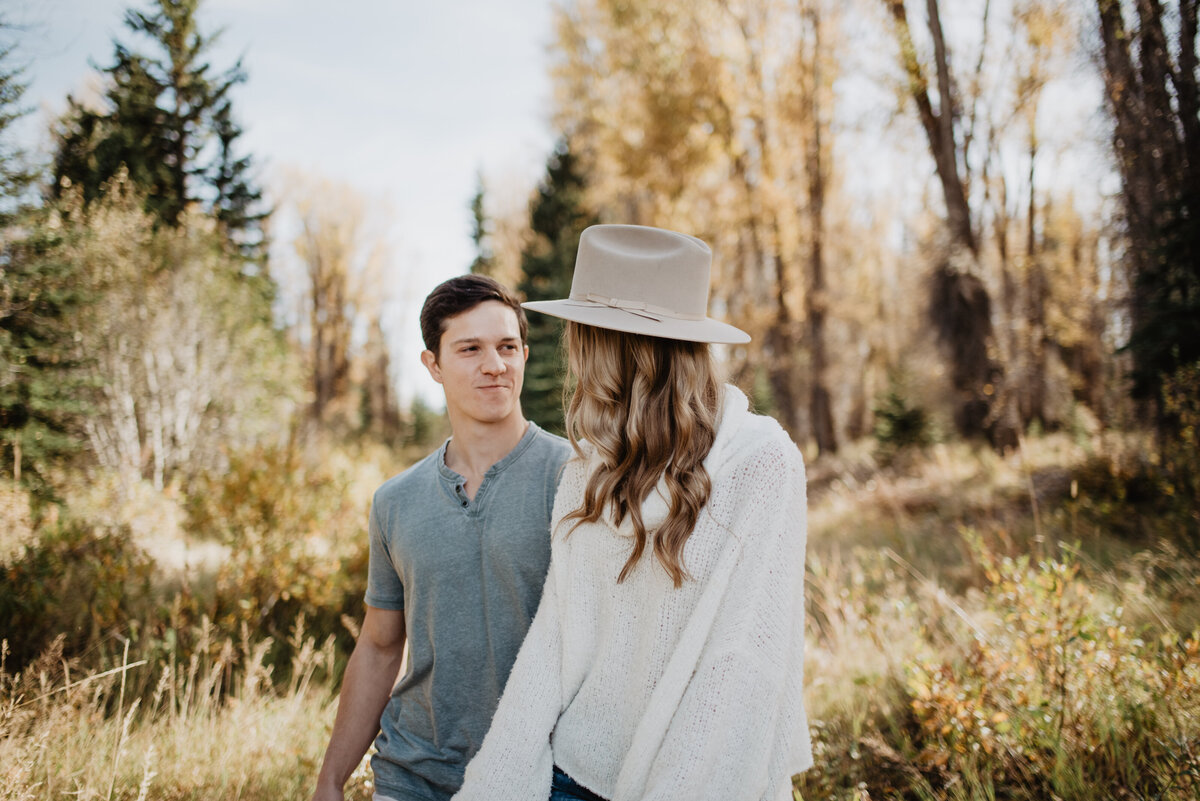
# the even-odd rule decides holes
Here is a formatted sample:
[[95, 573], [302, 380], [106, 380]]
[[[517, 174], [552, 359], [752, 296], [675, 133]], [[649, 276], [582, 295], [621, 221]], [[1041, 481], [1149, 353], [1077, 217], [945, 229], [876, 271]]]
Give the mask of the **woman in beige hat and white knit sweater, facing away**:
[[791, 799], [802, 697], [804, 464], [721, 386], [712, 253], [655, 228], [583, 231], [569, 320], [576, 456], [541, 606], [457, 801]]

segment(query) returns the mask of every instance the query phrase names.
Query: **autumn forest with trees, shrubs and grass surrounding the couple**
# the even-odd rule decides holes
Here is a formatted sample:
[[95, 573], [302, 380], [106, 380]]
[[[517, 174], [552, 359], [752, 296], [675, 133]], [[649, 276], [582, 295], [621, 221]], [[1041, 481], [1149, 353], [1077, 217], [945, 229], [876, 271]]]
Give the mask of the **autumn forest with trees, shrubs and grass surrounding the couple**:
[[[371, 492], [446, 433], [397, 402], [370, 199], [296, 173], [264, 200], [253, 77], [197, 6], [128, 11], [48, 163], [0, 30], [0, 799], [306, 797]], [[809, 460], [797, 795], [1195, 797], [1196, 0], [552, 16], [559, 144], [528, 204], [463, 198], [462, 269], [536, 300], [593, 222], [713, 246], [754, 336], [722, 369]], [[560, 330], [530, 324], [523, 404], [560, 428]]]

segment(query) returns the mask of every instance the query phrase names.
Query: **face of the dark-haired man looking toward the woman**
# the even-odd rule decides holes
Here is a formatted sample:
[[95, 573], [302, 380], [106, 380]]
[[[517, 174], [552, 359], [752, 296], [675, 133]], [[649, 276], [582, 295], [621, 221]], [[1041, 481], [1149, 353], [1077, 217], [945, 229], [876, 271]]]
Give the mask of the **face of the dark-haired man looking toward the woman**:
[[446, 320], [437, 357], [421, 354], [446, 393], [454, 417], [494, 423], [521, 412], [521, 384], [529, 349], [517, 315], [499, 301], [484, 301]]

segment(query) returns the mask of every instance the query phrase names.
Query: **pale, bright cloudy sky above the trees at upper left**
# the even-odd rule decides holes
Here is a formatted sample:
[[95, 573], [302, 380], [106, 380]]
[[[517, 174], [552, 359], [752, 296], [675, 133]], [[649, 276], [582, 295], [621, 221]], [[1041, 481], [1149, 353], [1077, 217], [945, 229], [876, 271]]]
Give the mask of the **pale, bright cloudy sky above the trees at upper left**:
[[[146, 6], [5, 0], [24, 30], [26, 146], [44, 150], [66, 96], [95, 90], [90, 65], [112, 64], [114, 37], [136, 42], [121, 23], [131, 5]], [[532, 186], [553, 146], [550, 0], [208, 0], [200, 19], [204, 31], [224, 29], [215, 68], [244, 59], [234, 108], [263, 183], [300, 168], [390, 204], [395, 259], [382, 289], [394, 299], [424, 297], [470, 264], [476, 174]], [[439, 398], [420, 375], [415, 317], [395, 317], [402, 391]]]

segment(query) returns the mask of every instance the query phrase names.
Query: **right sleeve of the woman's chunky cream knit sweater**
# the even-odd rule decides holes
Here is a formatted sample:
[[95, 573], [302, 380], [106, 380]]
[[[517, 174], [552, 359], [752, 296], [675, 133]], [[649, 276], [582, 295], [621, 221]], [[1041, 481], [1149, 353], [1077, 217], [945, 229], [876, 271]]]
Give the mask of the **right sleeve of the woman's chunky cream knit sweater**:
[[[806, 531], [796, 446], [779, 432], [718, 477], [710, 502], [742, 553], [640, 797], [791, 799], [782, 773], [810, 759], [803, 698], [791, 692], [803, 670]], [[797, 728], [803, 743], [790, 734]], [[804, 753], [781, 758], [780, 747]]]

